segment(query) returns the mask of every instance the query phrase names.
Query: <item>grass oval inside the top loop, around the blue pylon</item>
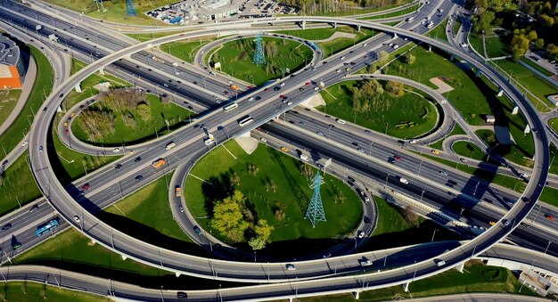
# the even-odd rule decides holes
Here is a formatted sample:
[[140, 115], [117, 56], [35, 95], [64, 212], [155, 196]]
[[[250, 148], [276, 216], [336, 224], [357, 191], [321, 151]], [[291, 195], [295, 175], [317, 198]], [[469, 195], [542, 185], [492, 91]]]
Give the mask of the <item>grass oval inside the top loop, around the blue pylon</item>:
[[252, 62], [255, 48], [253, 40], [250, 38], [227, 42], [218, 48], [217, 52], [209, 52], [209, 61], [220, 62], [221, 71], [234, 78], [260, 86], [270, 79], [282, 78], [283, 73], [286, 76], [286, 69], [293, 73], [312, 60], [312, 50], [307, 45], [291, 40], [262, 37], [267, 63], [257, 67]]

